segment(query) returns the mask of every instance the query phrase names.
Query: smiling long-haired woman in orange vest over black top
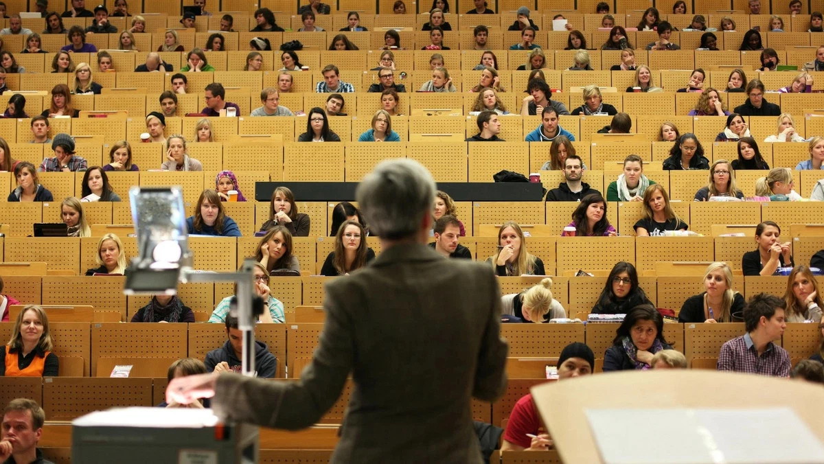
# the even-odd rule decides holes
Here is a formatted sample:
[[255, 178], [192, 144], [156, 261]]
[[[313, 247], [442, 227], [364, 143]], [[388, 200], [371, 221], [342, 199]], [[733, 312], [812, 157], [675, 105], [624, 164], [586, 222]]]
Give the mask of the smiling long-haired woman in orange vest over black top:
[[0, 376], [57, 377], [60, 361], [52, 353], [53, 346], [49, 316], [43, 308], [23, 307], [12, 327], [12, 340], [0, 352]]

